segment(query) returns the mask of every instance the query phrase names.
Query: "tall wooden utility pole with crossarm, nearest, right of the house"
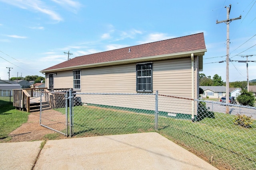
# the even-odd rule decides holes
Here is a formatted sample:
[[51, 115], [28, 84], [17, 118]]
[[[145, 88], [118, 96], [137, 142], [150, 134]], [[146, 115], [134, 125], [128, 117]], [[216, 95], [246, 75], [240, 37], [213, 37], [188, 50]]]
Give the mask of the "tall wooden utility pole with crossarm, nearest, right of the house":
[[[240, 15], [238, 18], [232, 18], [229, 19], [229, 14], [230, 14], [230, 10], [231, 10], [231, 4], [229, 5], [229, 7], [227, 8], [227, 20], [223, 20], [223, 21], [218, 21], [216, 20], [216, 24], [217, 23], [226, 23], [227, 24], [227, 53], [226, 53], [226, 104], [229, 104], [229, 23], [233, 20], [240, 20], [242, 18], [242, 16]], [[229, 108], [228, 106], [226, 106], [226, 113], [229, 113]]]

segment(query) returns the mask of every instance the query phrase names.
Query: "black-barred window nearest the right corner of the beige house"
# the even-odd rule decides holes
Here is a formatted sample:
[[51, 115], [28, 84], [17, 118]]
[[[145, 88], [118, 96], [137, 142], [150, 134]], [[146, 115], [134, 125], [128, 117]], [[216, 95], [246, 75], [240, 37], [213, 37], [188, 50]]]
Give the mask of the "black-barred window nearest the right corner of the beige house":
[[152, 63], [136, 65], [137, 92], [152, 92]]

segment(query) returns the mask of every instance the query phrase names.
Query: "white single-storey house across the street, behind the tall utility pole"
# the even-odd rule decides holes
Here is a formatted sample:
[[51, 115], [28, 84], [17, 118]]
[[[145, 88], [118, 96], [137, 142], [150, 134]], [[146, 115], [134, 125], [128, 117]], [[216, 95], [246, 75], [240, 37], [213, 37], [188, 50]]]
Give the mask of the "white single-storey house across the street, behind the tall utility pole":
[[[209, 98], [218, 99], [222, 96], [226, 96], [226, 86], [199, 86], [204, 90], [204, 94], [202, 95], [203, 98], [208, 96]], [[230, 97], [237, 97], [239, 96], [242, 91], [241, 88], [229, 88], [229, 96]]]

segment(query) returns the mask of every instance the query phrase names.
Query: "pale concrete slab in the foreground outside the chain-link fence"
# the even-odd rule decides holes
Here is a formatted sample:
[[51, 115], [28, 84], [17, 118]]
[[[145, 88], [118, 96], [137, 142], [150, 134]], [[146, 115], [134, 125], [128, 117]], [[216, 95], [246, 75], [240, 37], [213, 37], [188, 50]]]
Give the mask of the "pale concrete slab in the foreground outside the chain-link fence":
[[0, 170], [217, 170], [158, 133], [0, 143]]

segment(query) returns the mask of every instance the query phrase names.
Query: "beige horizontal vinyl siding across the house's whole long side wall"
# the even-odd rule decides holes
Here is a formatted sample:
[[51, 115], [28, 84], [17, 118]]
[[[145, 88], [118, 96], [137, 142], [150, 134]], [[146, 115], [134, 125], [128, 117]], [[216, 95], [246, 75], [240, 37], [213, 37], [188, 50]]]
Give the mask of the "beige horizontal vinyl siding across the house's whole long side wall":
[[[192, 98], [191, 59], [172, 59], [153, 62], [153, 92], [159, 94]], [[196, 76], [196, 74], [195, 74]], [[47, 78], [46, 78], [47, 79]], [[197, 81], [197, 80], [196, 80]], [[49, 86], [49, 84], [46, 84]], [[54, 75], [54, 88], [73, 87], [73, 72], [58, 72]], [[81, 69], [81, 91], [84, 93], [136, 93], [136, 63], [99, 68]], [[140, 109], [155, 109], [154, 97], [110, 95], [77, 95], [87, 104], [100, 104]], [[105, 100], [100, 100], [106, 98]], [[159, 104], [159, 111], [191, 114], [192, 101], [167, 97]]]

